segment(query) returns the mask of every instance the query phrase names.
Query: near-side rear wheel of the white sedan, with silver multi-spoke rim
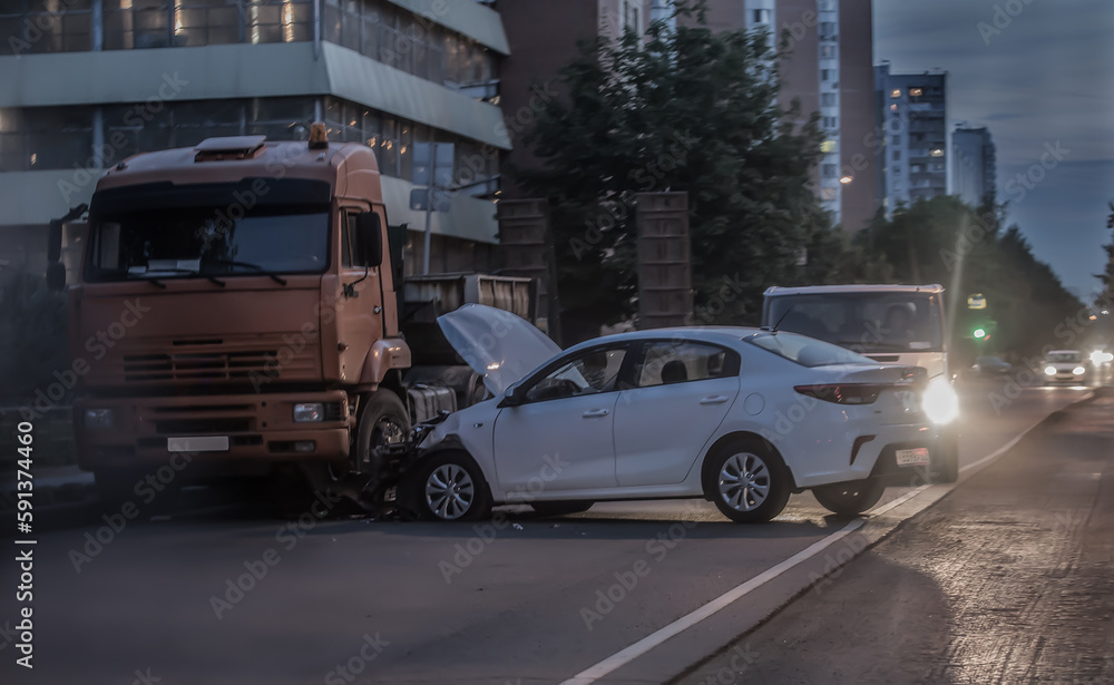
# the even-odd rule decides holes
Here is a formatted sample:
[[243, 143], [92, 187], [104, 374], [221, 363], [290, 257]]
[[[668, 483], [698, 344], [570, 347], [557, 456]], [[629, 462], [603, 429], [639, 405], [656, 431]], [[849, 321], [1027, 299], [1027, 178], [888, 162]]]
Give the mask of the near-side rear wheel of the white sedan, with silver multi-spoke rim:
[[793, 478], [763, 440], [734, 440], [704, 462], [704, 496], [736, 523], [764, 523], [785, 508]]

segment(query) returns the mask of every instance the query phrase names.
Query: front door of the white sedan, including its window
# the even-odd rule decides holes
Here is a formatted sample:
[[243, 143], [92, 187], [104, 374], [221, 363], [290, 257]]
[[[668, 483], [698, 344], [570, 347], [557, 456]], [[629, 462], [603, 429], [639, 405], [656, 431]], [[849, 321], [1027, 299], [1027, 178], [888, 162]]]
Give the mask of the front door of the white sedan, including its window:
[[613, 488], [613, 427], [627, 345], [573, 353], [524, 382], [496, 418], [495, 463], [508, 493]]

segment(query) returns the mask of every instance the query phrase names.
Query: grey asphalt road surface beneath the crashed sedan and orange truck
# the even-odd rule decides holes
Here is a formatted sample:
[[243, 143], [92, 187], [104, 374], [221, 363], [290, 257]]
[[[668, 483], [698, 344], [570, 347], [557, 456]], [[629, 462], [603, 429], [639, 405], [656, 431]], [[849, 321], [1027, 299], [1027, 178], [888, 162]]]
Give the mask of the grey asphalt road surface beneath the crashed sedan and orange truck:
[[[1086, 392], [1029, 389], [999, 404], [999, 391], [969, 390], [964, 463]], [[75, 508], [38, 535], [36, 679], [12, 666], [0, 623], [0, 682], [560, 682], [848, 525], [809, 495], [765, 526], [731, 525], [706, 502], [510, 511], [478, 526], [292, 523], [196, 503], [123, 525]], [[0, 587], [14, 587], [14, 571], [0, 567]], [[753, 620], [798, 590], [764, 587]], [[12, 596], [0, 622], [14, 618]], [[671, 643], [607, 682], [662, 682], [749, 620]]]

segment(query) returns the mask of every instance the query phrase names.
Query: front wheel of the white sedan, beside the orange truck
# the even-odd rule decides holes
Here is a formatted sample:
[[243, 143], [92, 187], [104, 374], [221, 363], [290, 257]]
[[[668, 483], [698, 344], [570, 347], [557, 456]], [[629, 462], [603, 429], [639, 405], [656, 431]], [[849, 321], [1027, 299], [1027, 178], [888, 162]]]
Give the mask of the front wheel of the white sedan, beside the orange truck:
[[475, 521], [491, 513], [491, 492], [476, 462], [465, 452], [434, 456], [409, 481], [412, 501], [424, 521]]

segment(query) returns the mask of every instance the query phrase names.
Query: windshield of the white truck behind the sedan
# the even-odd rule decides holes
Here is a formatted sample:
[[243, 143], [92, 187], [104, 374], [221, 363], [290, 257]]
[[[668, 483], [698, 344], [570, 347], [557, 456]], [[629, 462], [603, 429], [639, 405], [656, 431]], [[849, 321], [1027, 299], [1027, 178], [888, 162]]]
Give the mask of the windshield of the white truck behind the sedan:
[[764, 323], [857, 352], [944, 349], [939, 299], [929, 293], [774, 295], [769, 299]]

